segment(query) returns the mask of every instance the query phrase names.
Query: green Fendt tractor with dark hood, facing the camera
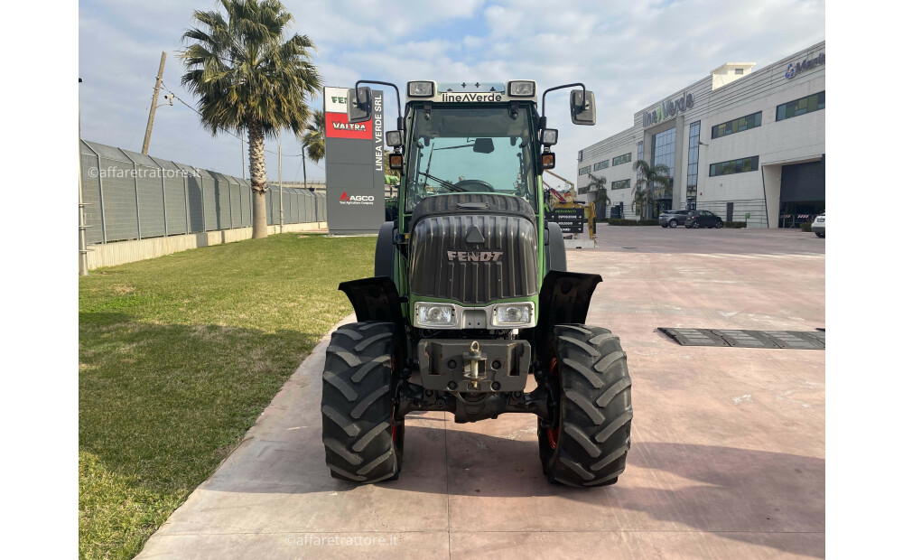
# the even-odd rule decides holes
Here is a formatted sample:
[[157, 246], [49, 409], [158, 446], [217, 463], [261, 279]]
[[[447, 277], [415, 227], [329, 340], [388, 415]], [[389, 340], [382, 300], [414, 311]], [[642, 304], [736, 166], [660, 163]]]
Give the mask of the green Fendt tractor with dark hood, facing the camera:
[[336, 330], [326, 350], [332, 476], [396, 479], [405, 415], [436, 410], [459, 423], [536, 415], [549, 481], [615, 483], [633, 418], [627, 358], [611, 331], [583, 324], [601, 278], [567, 271], [542, 188], [558, 137], [546, 127], [546, 94], [575, 88], [573, 123], [594, 125], [592, 92], [547, 89], [540, 116], [535, 81], [412, 81], [402, 113], [395, 85], [360, 80], [349, 89], [350, 123], [373, 114], [361, 83], [396, 90], [397, 130], [385, 142], [401, 183], [374, 276], [339, 286], [358, 322]]

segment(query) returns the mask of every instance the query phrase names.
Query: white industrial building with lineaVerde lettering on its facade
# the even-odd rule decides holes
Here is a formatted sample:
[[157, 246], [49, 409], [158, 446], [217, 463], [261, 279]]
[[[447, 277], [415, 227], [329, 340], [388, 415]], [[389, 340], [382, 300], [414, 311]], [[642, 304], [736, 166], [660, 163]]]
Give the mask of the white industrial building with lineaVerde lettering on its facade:
[[778, 228], [824, 210], [824, 42], [754, 67], [722, 64], [582, 149], [579, 198], [596, 201], [591, 175], [604, 177], [604, 216], [638, 218], [633, 163], [645, 158], [672, 171], [671, 192], [654, 190], [654, 216], [711, 210], [749, 228]]

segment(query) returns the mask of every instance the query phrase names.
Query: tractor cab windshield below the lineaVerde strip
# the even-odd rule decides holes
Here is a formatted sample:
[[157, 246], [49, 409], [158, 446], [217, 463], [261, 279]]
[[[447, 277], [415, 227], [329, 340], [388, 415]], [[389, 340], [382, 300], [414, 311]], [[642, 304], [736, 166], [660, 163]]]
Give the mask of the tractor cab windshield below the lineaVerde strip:
[[511, 117], [507, 107], [414, 109], [406, 184], [406, 211], [451, 192], [498, 192], [536, 208], [534, 135], [529, 109]]

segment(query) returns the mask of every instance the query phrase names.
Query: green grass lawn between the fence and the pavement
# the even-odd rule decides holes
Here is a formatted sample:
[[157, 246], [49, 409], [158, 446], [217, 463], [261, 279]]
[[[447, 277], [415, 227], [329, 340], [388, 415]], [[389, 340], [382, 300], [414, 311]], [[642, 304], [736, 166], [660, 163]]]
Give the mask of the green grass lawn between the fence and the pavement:
[[79, 281], [79, 556], [130, 558], [373, 274], [376, 238], [284, 234]]

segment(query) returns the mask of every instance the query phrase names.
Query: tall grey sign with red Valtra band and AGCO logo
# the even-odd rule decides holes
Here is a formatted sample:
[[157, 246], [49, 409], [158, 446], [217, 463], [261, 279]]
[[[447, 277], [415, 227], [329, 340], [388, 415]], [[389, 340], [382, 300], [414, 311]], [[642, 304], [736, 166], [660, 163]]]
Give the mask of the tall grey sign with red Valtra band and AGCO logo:
[[348, 122], [346, 88], [323, 89], [326, 199], [330, 232], [377, 232], [386, 219], [383, 183], [383, 92], [373, 91], [373, 117]]

